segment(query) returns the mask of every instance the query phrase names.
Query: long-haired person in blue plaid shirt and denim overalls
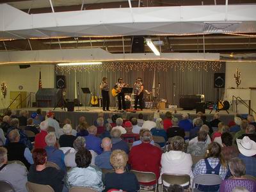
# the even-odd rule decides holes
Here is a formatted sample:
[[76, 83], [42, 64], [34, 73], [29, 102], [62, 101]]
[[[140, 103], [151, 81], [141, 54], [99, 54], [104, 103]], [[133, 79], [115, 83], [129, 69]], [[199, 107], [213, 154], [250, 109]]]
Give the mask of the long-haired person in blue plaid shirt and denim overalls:
[[[227, 164], [225, 163], [225, 159], [221, 155], [221, 146], [216, 142], [212, 142], [209, 144], [205, 159], [201, 159], [200, 161], [198, 161], [198, 163], [196, 163], [193, 170], [193, 175], [196, 176], [202, 174], [215, 174], [219, 175], [221, 179], [225, 179], [227, 172]], [[198, 186], [198, 189], [200, 191], [218, 191], [219, 188], [219, 185]]]

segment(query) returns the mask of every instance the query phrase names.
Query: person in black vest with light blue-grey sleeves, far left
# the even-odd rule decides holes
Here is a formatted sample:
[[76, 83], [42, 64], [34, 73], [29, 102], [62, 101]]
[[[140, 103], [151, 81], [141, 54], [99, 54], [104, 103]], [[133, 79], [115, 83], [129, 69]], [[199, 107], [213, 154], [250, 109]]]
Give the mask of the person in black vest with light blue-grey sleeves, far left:
[[19, 143], [19, 132], [16, 129], [10, 131], [8, 138], [10, 143], [5, 145], [6, 149], [8, 150], [8, 160], [19, 160], [24, 163], [29, 170], [30, 164], [33, 164], [32, 154], [29, 148], [27, 148], [23, 143]]

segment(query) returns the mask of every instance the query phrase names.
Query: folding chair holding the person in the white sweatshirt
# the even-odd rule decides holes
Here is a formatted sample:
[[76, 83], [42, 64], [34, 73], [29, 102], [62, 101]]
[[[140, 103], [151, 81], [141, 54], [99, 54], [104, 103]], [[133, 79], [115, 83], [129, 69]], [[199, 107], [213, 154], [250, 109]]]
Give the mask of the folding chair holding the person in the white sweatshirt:
[[[189, 175], [179, 175], [179, 174], [169, 174], [169, 173], [163, 173], [163, 175], [161, 175], [161, 180], [162, 180], [162, 192], [163, 192], [163, 188], [164, 188], [164, 182], [168, 183], [169, 186], [170, 185], [174, 185], [174, 184], [177, 184], [177, 185], [184, 185], [184, 184], [187, 184], [186, 186], [190, 186], [190, 176]], [[169, 186], [166, 186], [166, 187], [169, 187]]]

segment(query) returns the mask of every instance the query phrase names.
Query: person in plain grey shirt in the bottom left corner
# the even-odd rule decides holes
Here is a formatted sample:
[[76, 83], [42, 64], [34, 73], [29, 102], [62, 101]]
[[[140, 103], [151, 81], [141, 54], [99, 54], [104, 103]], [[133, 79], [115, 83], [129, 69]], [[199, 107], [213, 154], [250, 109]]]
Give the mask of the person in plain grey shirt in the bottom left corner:
[[10, 182], [17, 192], [27, 191], [27, 168], [18, 163], [8, 164], [7, 150], [4, 147], [0, 147], [0, 180]]

